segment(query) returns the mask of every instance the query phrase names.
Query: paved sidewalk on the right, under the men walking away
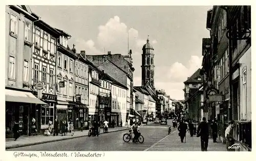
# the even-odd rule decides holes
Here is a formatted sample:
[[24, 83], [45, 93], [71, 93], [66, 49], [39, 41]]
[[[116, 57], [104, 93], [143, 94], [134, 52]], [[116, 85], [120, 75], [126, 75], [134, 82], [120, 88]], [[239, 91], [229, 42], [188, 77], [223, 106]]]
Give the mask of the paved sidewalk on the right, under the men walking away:
[[[222, 143], [213, 143], [212, 139], [209, 139], [207, 150], [227, 151], [226, 145]], [[201, 141], [200, 138], [197, 138], [196, 136], [190, 137], [189, 133], [187, 132], [186, 143], [181, 143], [177, 130], [146, 151], [201, 151]]]

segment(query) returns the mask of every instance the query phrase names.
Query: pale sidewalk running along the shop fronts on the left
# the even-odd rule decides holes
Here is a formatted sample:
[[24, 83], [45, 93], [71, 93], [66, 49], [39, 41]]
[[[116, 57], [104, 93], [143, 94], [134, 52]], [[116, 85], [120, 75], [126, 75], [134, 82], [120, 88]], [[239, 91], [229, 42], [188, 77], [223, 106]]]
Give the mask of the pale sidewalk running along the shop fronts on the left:
[[[127, 126], [123, 127], [115, 127], [115, 128], [109, 128], [109, 132], [115, 132], [115, 131], [122, 131], [128, 129]], [[17, 139], [17, 141], [14, 141], [13, 138], [6, 138], [6, 149], [11, 149], [11, 148], [18, 148], [18, 147], [24, 147], [24, 146], [31, 146], [31, 145], [36, 145], [36, 144], [44, 144], [44, 143], [50, 143], [50, 142], [56, 142], [56, 141], [61, 141], [61, 140], [68, 140], [68, 139], [74, 139], [74, 138], [80, 138], [80, 137], [86, 137], [88, 136], [88, 131], [89, 130], [83, 130], [81, 131], [75, 131], [74, 135], [71, 136], [71, 133], [68, 132], [68, 136], [43, 136], [43, 135], [38, 135], [38, 136], [22, 136]], [[109, 133], [108, 132], [108, 133]], [[100, 129], [100, 134], [103, 134], [103, 129]]]

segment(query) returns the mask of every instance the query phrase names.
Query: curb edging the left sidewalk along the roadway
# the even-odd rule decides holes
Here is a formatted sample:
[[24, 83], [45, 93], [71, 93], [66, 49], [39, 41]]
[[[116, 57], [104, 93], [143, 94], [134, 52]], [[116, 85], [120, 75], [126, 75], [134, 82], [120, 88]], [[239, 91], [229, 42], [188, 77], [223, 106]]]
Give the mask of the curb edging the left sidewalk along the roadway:
[[[115, 130], [115, 131], [109, 131], [108, 133], [123, 131], [123, 130], [127, 130], [127, 129], [130, 129], [130, 128], [124, 128], [124, 129], [119, 129], [119, 130]], [[103, 133], [100, 133], [100, 134], [102, 135]], [[45, 143], [57, 142], [57, 141], [61, 141], [61, 140], [70, 140], [70, 139], [82, 138], [82, 137], [88, 137], [88, 134], [87, 135], [82, 135], [82, 136], [71, 137], [71, 138], [61, 138], [61, 139], [56, 139], [56, 140], [42, 141], [42, 142], [37, 142], [37, 143], [28, 143], [28, 144], [23, 144], [23, 145], [13, 145], [13, 146], [6, 147], [5, 149], [14, 149], [14, 148], [20, 148], [20, 147], [25, 147], [25, 146], [45, 144]]]

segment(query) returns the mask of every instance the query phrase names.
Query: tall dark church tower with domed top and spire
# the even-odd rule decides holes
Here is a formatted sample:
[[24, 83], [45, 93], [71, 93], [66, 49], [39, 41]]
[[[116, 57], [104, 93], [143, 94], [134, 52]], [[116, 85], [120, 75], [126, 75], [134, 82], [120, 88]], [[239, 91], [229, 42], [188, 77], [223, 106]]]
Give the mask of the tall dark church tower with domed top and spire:
[[153, 89], [155, 89], [154, 84], [154, 48], [150, 44], [150, 40], [146, 40], [146, 44], [143, 45], [142, 48], [142, 79], [141, 86], [145, 87], [146, 85], [151, 85]]

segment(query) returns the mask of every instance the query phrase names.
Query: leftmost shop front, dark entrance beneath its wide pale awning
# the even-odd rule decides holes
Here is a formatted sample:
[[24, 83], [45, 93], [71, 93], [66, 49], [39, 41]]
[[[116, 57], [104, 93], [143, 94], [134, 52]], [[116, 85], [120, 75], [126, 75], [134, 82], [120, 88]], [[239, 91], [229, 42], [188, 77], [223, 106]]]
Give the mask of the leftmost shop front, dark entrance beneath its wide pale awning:
[[19, 132], [22, 135], [30, 135], [32, 118], [36, 119], [37, 129], [39, 106], [46, 102], [36, 98], [31, 92], [5, 90], [6, 95], [6, 136], [11, 136], [13, 125], [19, 123]]

